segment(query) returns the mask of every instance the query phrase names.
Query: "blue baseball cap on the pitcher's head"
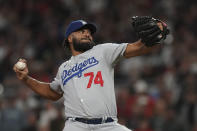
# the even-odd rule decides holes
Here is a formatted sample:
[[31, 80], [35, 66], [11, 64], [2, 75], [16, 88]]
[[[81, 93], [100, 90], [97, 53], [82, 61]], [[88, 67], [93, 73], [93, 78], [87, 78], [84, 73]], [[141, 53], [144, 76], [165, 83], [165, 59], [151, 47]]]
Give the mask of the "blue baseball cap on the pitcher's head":
[[90, 32], [91, 32], [91, 34], [94, 34], [94, 33], [96, 32], [96, 26], [95, 26], [94, 24], [92, 24], [92, 23], [87, 23], [87, 22], [84, 21], [84, 20], [76, 20], [76, 21], [72, 21], [72, 22], [68, 25], [68, 27], [67, 27], [67, 29], [66, 29], [65, 39], [67, 39], [68, 36], [69, 36], [71, 33], [75, 32], [75, 31], [77, 31], [77, 30], [79, 30], [79, 29], [81, 29], [81, 28], [87, 28], [87, 29], [89, 29]]

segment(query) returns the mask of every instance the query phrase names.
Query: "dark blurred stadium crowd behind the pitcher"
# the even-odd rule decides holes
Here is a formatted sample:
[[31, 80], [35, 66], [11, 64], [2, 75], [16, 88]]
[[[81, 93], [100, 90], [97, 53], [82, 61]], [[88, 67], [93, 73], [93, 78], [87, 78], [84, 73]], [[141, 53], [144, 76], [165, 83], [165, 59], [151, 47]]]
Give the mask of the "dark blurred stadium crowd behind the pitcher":
[[134, 131], [197, 131], [195, 0], [0, 0], [0, 131], [64, 127], [63, 100], [45, 100], [17, 80], [19, 58], [32, 77], [50, 82], [69, 58], [62, 42], [71, 21], [95, 23], [97, 44], [134, 42], [135, 15], [165, 21], [171, 34], [160, 50], [117, 64], [119, 122]]

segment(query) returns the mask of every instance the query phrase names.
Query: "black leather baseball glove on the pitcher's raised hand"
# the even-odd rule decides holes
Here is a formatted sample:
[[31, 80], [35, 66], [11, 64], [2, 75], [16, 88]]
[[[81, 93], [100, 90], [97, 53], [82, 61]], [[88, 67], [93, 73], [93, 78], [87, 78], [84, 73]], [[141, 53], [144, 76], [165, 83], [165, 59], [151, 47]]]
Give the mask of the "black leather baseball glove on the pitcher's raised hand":
[[160, 44], [169, 34], [164, 22], [150, 16], [134, 16], [132, 25], [138, 37], [148, 47]]

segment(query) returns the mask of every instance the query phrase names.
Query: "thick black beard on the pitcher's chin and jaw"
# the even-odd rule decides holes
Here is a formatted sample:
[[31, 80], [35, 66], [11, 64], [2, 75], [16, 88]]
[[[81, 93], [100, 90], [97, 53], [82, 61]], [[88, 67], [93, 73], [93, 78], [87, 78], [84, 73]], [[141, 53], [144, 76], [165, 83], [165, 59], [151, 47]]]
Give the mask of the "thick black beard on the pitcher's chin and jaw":
[[79, 40], [73, 38], [73, 47], [76, 51], [85, 52], [89, 49], [92, 49], [94, 46], [94, 41], [90, 40], [90, 42], [80, 42]]

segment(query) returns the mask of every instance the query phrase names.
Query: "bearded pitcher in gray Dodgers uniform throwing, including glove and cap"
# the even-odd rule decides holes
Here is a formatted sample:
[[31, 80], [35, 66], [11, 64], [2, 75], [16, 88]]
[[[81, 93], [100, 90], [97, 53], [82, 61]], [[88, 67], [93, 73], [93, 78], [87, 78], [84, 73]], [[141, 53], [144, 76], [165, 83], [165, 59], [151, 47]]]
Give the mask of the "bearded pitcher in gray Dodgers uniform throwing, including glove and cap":
[[131, 58], [158, 48], [166, 36], [166, 25], [151, 17], [134, 17], [133, 27], [140, 37], [134, 43], [95, 45], [94, 24], [71, 22], [66, 29], [65, 47], [72, 56], [61, 64], [51, 83], [30, 77], [27, 66], [20, 70], [15, 64], [13, 69], [17, 78], [39, 95], [55, 101], [64, 97], [63, 131], [131, 131], [117, 122], [114, 66], [121, 57]]

